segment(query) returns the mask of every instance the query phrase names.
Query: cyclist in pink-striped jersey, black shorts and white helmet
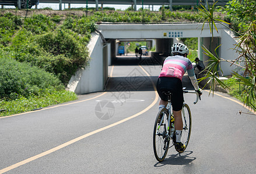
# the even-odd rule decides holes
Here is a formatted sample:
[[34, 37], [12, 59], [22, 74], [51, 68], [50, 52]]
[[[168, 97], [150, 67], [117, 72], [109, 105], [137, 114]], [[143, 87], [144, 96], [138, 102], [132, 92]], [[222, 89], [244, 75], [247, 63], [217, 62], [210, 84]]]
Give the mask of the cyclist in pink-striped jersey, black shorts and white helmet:
[[194, 68], [191, 61], [187, 58], [188, 48], [184, 44], [176, 43], [171, 46], [171, 53], [173, 56], [169, 56], [164, 60], [162, 71], [157, 80], [156, 88], [161, 98], [159, 103], [159, 110], [166, 107], [168, 103], [168, 97], [164, 95], [163, 91], [170, 91], [171, 104], [173, 106], [174, 114], [174, 126], [176, 129], [176, 143], [174, 143], [176, 151], [183, 153], [185, 145], [180, 142], [181, 133], [183, 131], [183, 120], [181, 118], [181, 110], [183, 108], [183, 75], [188, 72], [192, 85], [198, 94], [202, 95], [202, 89], [198, 87], [197, 78], [195, 77]]

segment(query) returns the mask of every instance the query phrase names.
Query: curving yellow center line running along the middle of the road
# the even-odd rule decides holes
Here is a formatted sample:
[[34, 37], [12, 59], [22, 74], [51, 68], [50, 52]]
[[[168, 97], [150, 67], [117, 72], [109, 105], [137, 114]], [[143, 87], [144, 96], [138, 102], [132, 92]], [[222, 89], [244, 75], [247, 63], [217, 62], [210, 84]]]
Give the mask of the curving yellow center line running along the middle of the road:
[[[141, 66], [140, 66], [140, 67], [141, 67]], [[142, 67], [141, 67], [141, 68], [142, 68]], [[142, 68], [142, 70], [146, 73], [146, 71], [145, 71], [143, 68]], [[146, 73], [146, 74], [148, 75], [148, 77], [150, 77], [150, 75], [149, 75], [148, 73]], [[76, 137], [75, 139], [70, 140], [69, 142], [66, 142], [66, 143], [61, 144], [61, 145], [59, 145], [59, 146], [57, 146], [57, 147], [51, 148], [50, 150], [44, 151], [44, 152], [41, 153], [41, 154], [34, 155], [33, 157], [27, 158], [26, 160], [23, 160], [23, 161], [17, 162], [16, 164], [10, 165], [10, 166], [8, 166], [8, 167], [6, 167], [6, 168], [4, 168], [4, 169], [1, 169], [1, 170], [0, 170], [0, 173], [8, 172], [8, 171], [10, 171], [10, 170], [12, 170], [12, 169], [15, 169], [15, 168], [17, 168], [17, 167], [19, 167], [19, 166], [21, 166], [21, 165], [27, 164], [28, 162], [34, 161], [34, 160], [36, 160], [36, 159], [38, 159], [38, 158], [44, 157], [45, 155], [51, 154], [51, 153], [53, 153], [54, 151], [60, 150], [61, 148], [64, 148], [64, 147], [66, 147], [66, 146], [69, 146], [70, 144], [73, 144], [73, 143], [75, 143], [75, 142], [78, 142], [79, 140], [85, 139], [85, 138], [88, 137], [88, 136], [94, 135], [95, 133], [99, 133], [99, 132], [104, 131], [104, 130], [106, 130], [106, 129], [108, 129], [108, 128], [111, 128], [111, 127], [113, 127], [113, 126], [119, 125], [119, 124], [121, 124], [121, 123], [123, 123], [123, 122], [125, 122], [125, 121], [128, 121], [129, 119], [138, 117], [139, 115], [145, 113], [145, 112], [148, 111], [150, 108], [152, 108], [152, 107], [156, 104], [157, 100], [159, 99], [159, 97], [158, 97], [158, 95], [157, 95], [157, 92], [156, 92], [156, 86], [155, 86], [155, 84], [153, 83], [153, 81], [152, 81], [151, 78], [150, 78], [150, 80], [151, 80], [152, 85], [153, 85], [153, 87], [154, 87], [154, 89], [155, 89], [155, 100], [154, 100], [148, 107], [146, 107], [145, 109], [143, 109], [143, 110], [140, 111], [139, 113], [136, 113], [136, 114], [132, 115], [131, 117], [122, 119], [121, 121], [115, 122], [114, 124], [105, 126], [105, 127], [103, 127], [103, 128], [97, 129], [97, 130], [95, 130], [95, 131], [93, 131], [93, 132], [89, 132], [89, 133], [86, 133], [85, 135]], [[94, 98], [96, 98], [96, 97], [94, 97]], [[87, 99], [87, 100], [88, 100], [88, 99]]]

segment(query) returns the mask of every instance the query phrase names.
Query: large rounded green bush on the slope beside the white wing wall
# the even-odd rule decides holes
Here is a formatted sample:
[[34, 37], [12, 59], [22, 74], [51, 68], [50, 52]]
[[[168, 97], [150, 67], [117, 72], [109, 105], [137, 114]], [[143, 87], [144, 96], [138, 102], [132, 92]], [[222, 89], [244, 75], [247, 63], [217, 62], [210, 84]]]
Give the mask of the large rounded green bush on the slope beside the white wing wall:
[[86, 44], [72, 31], [47, 32], [38, 35], [36, 41], [47, 52], [38, 56], [37, 66], [56, 74], [64, 84], [88, 61]]

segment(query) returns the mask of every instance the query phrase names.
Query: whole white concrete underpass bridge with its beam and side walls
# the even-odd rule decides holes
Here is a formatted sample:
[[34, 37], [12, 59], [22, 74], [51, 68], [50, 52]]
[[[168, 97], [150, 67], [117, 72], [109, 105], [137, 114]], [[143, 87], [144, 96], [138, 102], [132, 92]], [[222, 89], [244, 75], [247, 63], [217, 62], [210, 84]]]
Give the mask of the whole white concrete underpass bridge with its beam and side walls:
[[[238, 55], [232, 49], [236, 41], [232, 32], [227, 30], [222, 24], [216, 24], [219, 32], [213, 31], [214, 37], [210, 32], [209, 25], [205, 24], [204, 30], [201, 31], [202, 24], [198, 23], [177, 23], [177, 24], [138, 24], [138, 23], [99, 23], [97, 30], [100, 34], [93, 34], [89, 44], [90, 66], [85, 70], [79, 70], [69, 82], [68, 88], [78, 94], [95, 92], [103, 90], [107, 81], [108, 65], [116, 55], [115, 41], [124, 39], [141, 40], [155, 39], [156, 52], [162, 53], [163, 56], [170, 55], [171, 45], [176, 42], [176, 38], [198, 38], [198, 57], [206, 64], [209, 58], [203, 54], [202, 45], [212, 53], [217, 46], [222, 45], [217, 50], [219, 57], [232, 60]], [[103, 67], [99, 70], [99, 67]], [[223, 75], [230, 75], [236, 66], [222, 62], [221, 67]], [[92, 76], [93, 74], [93, 76]]]

